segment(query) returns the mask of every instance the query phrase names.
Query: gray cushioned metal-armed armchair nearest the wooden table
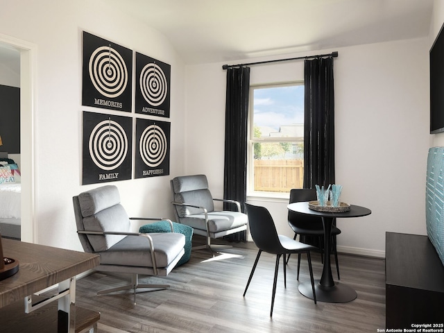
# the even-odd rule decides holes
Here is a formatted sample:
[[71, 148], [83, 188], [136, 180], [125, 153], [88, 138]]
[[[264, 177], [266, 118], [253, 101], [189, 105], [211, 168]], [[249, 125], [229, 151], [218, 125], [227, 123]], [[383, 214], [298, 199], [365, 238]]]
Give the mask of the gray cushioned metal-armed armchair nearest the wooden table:
[[[131, 283], [99, 291], [97, 294], [136, 289], [167, 289], [168, 284], [139, 284], [139, 274], [167, 276], [185, 250], [185, 236], [173, 232], [168, 219], [129, 218], [120, 204], [114, 185], [91, 189], [73, 197], [74, 215], [80, 243], [87, 253], [100, 255], [96, 271], [130, 273]], [[140, 233], [130, 231], [130, 219], [167, 220], [171, 232]], [[150, 290], [151, 291], [151, 290]]]

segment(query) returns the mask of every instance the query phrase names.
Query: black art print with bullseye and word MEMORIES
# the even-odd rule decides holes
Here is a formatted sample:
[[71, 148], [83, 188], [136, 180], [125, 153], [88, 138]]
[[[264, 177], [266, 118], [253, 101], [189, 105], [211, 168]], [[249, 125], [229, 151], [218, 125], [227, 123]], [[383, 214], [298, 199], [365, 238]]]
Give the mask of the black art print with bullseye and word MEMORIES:
[[82, 105], [131, 112], [133, 51], [83, 32]]

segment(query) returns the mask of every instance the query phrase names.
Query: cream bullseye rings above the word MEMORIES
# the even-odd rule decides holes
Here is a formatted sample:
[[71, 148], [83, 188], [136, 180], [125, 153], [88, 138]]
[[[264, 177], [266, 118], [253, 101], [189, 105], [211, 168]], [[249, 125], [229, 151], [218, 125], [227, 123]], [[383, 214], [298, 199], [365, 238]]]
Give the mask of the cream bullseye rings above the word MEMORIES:
[[89, 58], [88, 69], [92, 84], [103, 96], [118, 97], [128, 85], [125, 61], [111, 46], [98, 47]]

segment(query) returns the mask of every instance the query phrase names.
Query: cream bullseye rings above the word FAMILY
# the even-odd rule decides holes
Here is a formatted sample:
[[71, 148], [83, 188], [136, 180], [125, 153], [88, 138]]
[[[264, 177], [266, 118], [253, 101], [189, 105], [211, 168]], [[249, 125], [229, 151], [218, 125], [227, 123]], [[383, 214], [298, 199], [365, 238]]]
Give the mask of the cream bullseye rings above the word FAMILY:
[[113, 170], [119, 167], [128, 153], [128, 139], [115, 121], [101, 121], [89, 136], [89, 154], [97, 167]]

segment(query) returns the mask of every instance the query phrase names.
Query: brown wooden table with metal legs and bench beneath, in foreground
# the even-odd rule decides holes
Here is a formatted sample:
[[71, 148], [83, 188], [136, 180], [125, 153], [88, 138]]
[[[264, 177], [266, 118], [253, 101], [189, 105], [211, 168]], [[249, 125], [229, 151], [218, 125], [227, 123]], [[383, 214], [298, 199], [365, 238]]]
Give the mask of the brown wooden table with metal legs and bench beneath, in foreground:
[[[58, 332], [75, 333], [88, 326], [85, 317], [89, 321], [99, 320], [100, 314], [95, 311], [80, 308], [76, 311], [76, 275], [99, 265], [99, 255], [11, 239], [1, 239], [1, 244], [4, 257], [19, 261], [19, 271], [0, 281], [0, 332], [17, 332], [16, 325], [29, 325], [29, 332], [37, 332], [37, 327], [46, 332], [51, 325], [56, 325]], [[35, 302], [34, 293], [56, 284], [56, 296], [44, 302], [37, 297]], [[50, 316], [46, 309], [51, 309], [51, 302], [55, 300], [58, 300], [58, 311], [54, 309], [54, 315]]]

